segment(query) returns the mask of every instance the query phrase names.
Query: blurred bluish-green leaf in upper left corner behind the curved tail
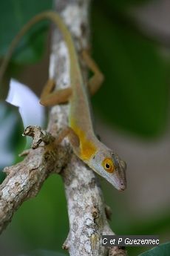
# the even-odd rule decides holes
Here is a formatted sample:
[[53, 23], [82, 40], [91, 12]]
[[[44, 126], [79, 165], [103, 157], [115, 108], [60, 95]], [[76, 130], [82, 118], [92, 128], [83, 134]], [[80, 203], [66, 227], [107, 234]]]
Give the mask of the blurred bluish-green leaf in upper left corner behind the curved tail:
[[[1, 1], [0, 8], [0, 56], [3, 56], [16, 36], [18, 30], [30, 20], [35, 14], [43, 10], [50, 9], [52, 1], [33, 1], [33, 0], [7, 0]], [[38, 34], [38, 36], [37, 36]], [[27, 32], [20, 44], [21, 52], [13, 61], [21, 63], [32, 63], [41, 58], [44, 52], [44, 39], [47, 35], [47, 22], [36, 24], [31, 31]]]

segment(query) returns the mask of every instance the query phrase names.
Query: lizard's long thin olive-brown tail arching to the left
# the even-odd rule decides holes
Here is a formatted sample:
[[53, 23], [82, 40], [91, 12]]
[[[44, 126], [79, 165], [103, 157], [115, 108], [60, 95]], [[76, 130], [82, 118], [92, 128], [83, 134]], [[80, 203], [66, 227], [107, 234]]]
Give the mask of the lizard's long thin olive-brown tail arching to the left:
[[[69, 50], [70, 69], [72, 69], [72, 68], [77, 69], [77, 70], [79, 69], [78, 67], [75, 67], [76, 63], [78, 63], [77, 55], [75, 53], [75, 47], [74, 47], [74, 44], [72, 41], [72, 36], [69, 33], [69, 30], [67, 29], [66, 25], [64, 24], [63, 20], [58, 15], [58, 13], [55, 13], [54, 11], [46, 11], [46, 12], [43, 12], [43, 13], [40, 13], [40, 14], [34, 16], [33, 19], [30, 19], [30, 21], [27, 22], [27, 24], [25, 24], [24, 27], [21, 28], [21, 30], [18, 32], [16, 37], [13, 39], [13, 41], [9, 47], [9, 50], [7, 51], [7, 54], [4, 57], [4, 60], [0, 67], [0, 84], [1, 84], [1, 80], [4, 76], [4, 72], [7, 68], [7, 65], [10, 62], [11, 56], [13, 55], [13, 52], [16, 49], [18, 42], [21, 40], [22, 36], [24, 36], [24, 34], [27, 33], [27, 30], [30, 30], [30, 28], [34, 24], [36, 24], [44, 19], [49, 19], [51, 22], [53, 22], [59, 28], [59, 30], [61, 30], [61, 33], [64, 37], [64, 41], [67, 43], [67, 47]], [[72, 70], [70, 70], [70, 72], [72, 72]]]

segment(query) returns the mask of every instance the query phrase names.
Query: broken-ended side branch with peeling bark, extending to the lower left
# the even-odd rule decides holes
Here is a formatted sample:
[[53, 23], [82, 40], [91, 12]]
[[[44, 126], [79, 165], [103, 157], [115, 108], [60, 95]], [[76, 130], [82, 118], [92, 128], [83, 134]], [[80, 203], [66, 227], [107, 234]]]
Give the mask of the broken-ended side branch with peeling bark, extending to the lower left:
[[[33, 130], [35, 139], [39, 136], [39, 131], [46, 134], [46, 131], [37, 127], [32, 127]], [[21, 163], [4, 168], [7, 178], [0, 186], [0, 233], [10, 223], [16, 209], [28, 198], [35, 197], [44, 180], [52, 172], [61, 171], [68, 161], [66, 149], [61, 145], [56, 148], [51, 142], [50, 134], [44, 140], [49, 140], [50, 144], [24, 151], [21, 155], [27, 157]]]

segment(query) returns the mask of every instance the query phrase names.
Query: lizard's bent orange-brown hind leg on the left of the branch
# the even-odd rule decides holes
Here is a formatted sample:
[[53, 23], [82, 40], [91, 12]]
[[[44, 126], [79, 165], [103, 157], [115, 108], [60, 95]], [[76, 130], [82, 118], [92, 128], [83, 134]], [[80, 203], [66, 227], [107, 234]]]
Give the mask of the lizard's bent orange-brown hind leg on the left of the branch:
[[55, 81], [49, 79], [44, 85], [44, 89], [41, 93], [40, 103], [44, 106], [53, 106], [61, 103], [66, 103], [69, 100], [69, 97], [72, 93], [72, 88], [65, 88], [54, 91]]

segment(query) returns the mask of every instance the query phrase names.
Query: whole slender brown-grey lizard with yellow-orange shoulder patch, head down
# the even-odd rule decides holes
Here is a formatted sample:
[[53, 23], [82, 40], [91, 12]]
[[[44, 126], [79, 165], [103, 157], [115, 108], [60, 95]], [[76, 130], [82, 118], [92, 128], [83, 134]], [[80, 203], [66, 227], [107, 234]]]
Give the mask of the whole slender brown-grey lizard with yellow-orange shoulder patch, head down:
[[[4, 58], [4, 62], [2, 62], [0, 81], [13, 50], [21, 39], [21, 36], [23, 36], [33, 24], [42, 19], [49, 19], [61, 30], [69, 51], [69, 75], [71, 86], [67, 89], [52, 91], [54, 84], [52, 80], [50, 80], [47, 82], [47, 85], [44, 86], [40, 102], [42, 105], [51, 106], [69, 100], [69, 128], [61, 132], [61, 137], [69, 137], [74, 153], [83, 160], [84, 163], [89, 165], [93, 171], [104, 177], [118, 190], [124, 190], [126, 188], [126, 163], [123, 160], [120, 160], [118, 154], [115, 154], [115, 152], [107, 148], [106, 145], [103, 145], [103, 143], [95, 136], [92, 127], [89, 99], [78, 62], [78, 54], [76, 53], [69, 30], [57, 13], [53, 11], [40, 13], [24, 25], [16, 38], [13, 39], [10, 49]], [[93, 62], [90, 56], [85, 52], [84, 59], [89, 68], [95, 73], [89, 81], [89, 91], [94, 93], [100, 86], [103, 76], [98, 70], [97, 65], [95, 65], [95, 62]]]

